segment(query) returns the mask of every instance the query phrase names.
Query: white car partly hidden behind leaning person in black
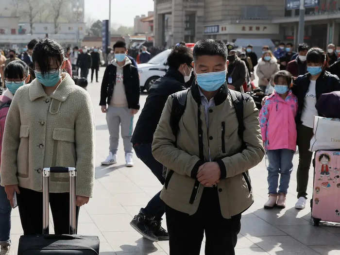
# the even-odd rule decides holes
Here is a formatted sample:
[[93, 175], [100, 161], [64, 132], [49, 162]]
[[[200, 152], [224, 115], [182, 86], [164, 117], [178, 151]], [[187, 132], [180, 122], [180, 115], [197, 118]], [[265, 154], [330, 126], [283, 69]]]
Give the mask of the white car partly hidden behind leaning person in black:
[[141, 91], [148, 91], [153, 83], [165, 74], [168, 69], [167, 59], [170, 52], [170, 49], [162, 51], [150, 59], [148, 63], [138, 64]]

